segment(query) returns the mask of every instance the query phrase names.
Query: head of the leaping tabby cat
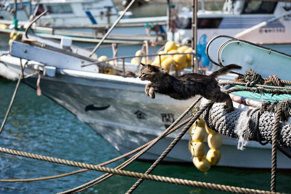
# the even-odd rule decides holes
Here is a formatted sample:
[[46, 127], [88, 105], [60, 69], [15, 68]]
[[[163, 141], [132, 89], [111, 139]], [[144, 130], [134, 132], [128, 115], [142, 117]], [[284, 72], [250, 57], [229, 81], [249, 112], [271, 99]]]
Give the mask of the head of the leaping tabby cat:
[[156, 65], [150, 65], [150, 64], [143, 64], [141, 63], [141, 69], [139, 71], [139, 78], [141, 80], [152, 80], [161, 73], [167, 73], [167, 70], [165, 70], [163, 67], [156, 66]]

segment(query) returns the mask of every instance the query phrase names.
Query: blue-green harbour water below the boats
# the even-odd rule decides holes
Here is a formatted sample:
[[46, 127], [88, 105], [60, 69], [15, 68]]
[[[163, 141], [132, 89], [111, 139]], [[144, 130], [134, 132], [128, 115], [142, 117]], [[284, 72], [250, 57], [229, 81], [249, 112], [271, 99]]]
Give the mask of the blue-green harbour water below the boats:
[[[6, 113], [15, 85], [16, 82], [0, 79], [1, 121]], [[43, 95], [37, 96], [34, 89], [23, 83], [20, 84], [14, 105], [0, 135], [0, 142], [0, 146], [5, 148], [90, 164], [102, 163], [120, 155], [106, 140], [70, 112]], [[188, 148], [185, 147], [185, 149]], [[123, 161], [112, 163], [108, 167], [114, 168]], [[125, 170], [145, 172], [150, 165], [151, 163], [136, 161]], [[0, 179], [36, 178], [78, 169], [0, 153]], [[0, 182], [0, 193], [56, 193], [86, 183], [102, 174], [90, 170], [51, 180], [20, 183]], [[222, 167], [212, 167], [205, 174], [198, 171], [190, 163], [189, 165], [161, 164], [152, 174], [260, 190], [270, 189], [271, 177], [270, 170], [242, 170]], [[136, 178], [114, 175], [82, 193], [125, 193], [136, 180]], [[290, 181], [290, 172], [278, 172], [277, 191], [290, 193]], [[135, 193], [223, 192], [145, 180]]]

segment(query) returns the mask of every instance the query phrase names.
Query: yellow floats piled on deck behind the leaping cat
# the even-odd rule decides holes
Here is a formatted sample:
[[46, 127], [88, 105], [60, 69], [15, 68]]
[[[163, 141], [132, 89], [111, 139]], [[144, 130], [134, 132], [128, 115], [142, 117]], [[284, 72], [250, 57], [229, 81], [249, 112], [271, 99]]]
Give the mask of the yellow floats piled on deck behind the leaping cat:
[[[177, 54], [175, 54], [177, 53]], [[170, 71], [170, 68], [173, 67], [173, 70], [182, 70], [186, 67], [191, 66], [191, 54], [179, 54], [179, 53], [193, 53], [193, 49], [191, 47], [188, 47], [186, 45], [181, 46], [180, 44], [176, 44], [174, 41], [167, 41], [164, 50], [159, 51], [157, 54], [167, 54], [167, 55], [160, 55], [160, 57], [157, 55], [153, 61], [146, 57], [140, 57], [141, 55], [144, 55], [144, 51], [138, 50], [136, 51], [135, 57], [131, 59], [131, 64], [152, 64], [152, 65], [161, 65], [163, 68], [165, 68], [168, 72]], [[108, 59], [106, 56], [100, 56], [98, 58], [98, 61], [104, 61]], [[114, 63], [112, 61], [109, 61], [109, 64]]]

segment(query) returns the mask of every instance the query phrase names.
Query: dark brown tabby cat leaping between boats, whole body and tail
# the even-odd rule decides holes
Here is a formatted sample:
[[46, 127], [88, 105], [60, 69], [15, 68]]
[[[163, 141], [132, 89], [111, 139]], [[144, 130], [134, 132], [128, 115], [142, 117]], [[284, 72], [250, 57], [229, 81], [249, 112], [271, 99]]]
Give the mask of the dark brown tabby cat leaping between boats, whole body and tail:
[[228, 107], [228, 112], [233, 111], [233, 102], [230, 96], [220, 91], [215, 78], [228, 73], [232, 69], [241, 69], [241, 66], [230, 64], [210, 75], [189, 73], [173, 77], [160, 66], [142, 63], [141, 65], [138, 77], [141, 80], [149, 80], [151, 82], [145, 86], [145, 93], [151, 98], [155, 98], [155, 92], [168, 95], [177, 100], [186, 100], [200, 94], [214, 102], [226, 102], [224, 108]]

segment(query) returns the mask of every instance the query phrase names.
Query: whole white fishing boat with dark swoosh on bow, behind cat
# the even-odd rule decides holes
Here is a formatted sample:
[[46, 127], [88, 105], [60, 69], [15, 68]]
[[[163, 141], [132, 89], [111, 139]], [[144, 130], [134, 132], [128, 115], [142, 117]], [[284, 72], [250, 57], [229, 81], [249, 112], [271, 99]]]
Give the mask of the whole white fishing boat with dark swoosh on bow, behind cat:
[[[33, 36], [29, 38], [35, 39]], [[76, 115], [122, 154], [157, 137], [195, 100], [193, 98], [180, 101], [159, 94], [155, 99], [151, 99], [144, 92], [148, 82], [141, 81], [134, 73], [138, 65], [125, 62], [126, 71], [123, 73], [121, 63], [114, 67], [119, 73], [104, 74], [101, 73], [104, 67], [100, 65], [81, 67], [97, 59], [95, 55], [88, 57], [90, 51], [42, 38], [38, 38], [38, 41], [45, 44], [12, 41], [9, 53], [2, 53], [0, 56], [1, 63], [18, 74], [21, 74], [22, 65], [24, 76], [40, 74], [39, 78], [37, 75], [26, 78], [25, 83], [35, 89], [39, 88], [42, 94]], [[107, 67], [113, 68], [110, 65]], [[286, 72], [281, 69], [281, 72], [276, 74]], [[235, 76], [228, 74], [222, 78], [232, 80]], [[234, 106], [250, 108], [235, 102]], [[155, 160], [177, 134], [178, 132], [173, 132], [160, 140], [140, 159]], [[188, 141], [189, 137], [185, 135], [167, 155], [165, 161], [192, 162]], [[270, 144], [262, 146], [252, 141], [243, 151], [238, 150], [237, 145], [238, 140], [223, 136], [223, 145], [220, 148], [222, 156], [218, 165], [241, 168], [271, 167]], [[291, 168], [289, 158], [280, 152], [277, 161], [278, 168]]]

